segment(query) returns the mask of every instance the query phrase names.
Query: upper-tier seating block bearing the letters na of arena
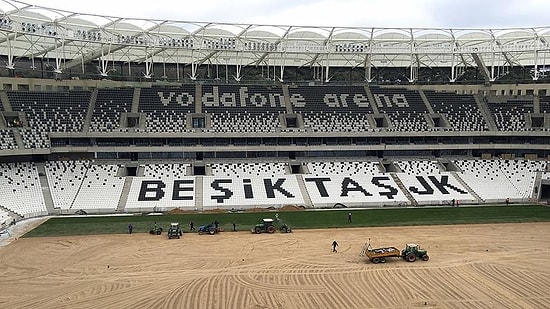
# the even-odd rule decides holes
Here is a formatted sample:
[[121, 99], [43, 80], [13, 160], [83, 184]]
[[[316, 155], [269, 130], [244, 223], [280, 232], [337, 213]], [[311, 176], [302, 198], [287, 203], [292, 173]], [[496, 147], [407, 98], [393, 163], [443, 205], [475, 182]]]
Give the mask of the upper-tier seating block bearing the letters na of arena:
[[378, 111], [388, 115], [393, 130], [426, 131], [430, 129], [424, 117], [424, 114], [428, 113], [426, 104], [417, 91], [373, 87], [371, 92]]

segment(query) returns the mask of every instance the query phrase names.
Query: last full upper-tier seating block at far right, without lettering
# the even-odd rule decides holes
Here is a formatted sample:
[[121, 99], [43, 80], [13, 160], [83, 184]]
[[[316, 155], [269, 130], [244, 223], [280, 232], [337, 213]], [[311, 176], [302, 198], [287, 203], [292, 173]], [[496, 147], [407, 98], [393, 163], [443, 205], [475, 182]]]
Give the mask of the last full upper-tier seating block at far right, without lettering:
[[533, 113], [532, 100], [508, 100], [506, 102], [488, 102], [487, 106], [495, 118], [499, 131], [524, 131], [525, 114]]

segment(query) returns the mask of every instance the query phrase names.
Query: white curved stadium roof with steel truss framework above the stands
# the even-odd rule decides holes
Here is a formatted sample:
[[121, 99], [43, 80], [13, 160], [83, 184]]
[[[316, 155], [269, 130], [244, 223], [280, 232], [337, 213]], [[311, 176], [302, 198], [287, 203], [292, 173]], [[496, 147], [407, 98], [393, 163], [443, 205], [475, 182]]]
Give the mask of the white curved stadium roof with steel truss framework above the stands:
[[[191, 78], [203, 64], [245, 66], [407, 67], [415, 79], [419, 67], [477, 66], [488, 80], [503, 67], [539, 68], [550, 62], [550, 28], [441, 29], [311, 27], [193, 22], [98, 16], [46, 8], [14, 0], [0, 1], [0, 54], [6, 67], [18, 59], [55, 59], [56, 72], [97, 61], [107, 76], [117, 62], [142, 63], [145, 76], [153, 63], [190, 65]], [[280, 75], [282, 76], [282, 74]]]

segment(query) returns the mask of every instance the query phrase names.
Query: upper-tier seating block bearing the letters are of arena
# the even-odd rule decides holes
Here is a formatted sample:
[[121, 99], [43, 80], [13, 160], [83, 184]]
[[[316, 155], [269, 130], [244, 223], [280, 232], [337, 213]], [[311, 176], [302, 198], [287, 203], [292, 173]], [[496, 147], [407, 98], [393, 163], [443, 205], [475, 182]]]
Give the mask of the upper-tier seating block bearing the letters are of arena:
[[362, 86], [297, 86], [288, 88], [292, 108], [304, 128], [313, 132], [365, 132], [372, 130], [372, 114]]

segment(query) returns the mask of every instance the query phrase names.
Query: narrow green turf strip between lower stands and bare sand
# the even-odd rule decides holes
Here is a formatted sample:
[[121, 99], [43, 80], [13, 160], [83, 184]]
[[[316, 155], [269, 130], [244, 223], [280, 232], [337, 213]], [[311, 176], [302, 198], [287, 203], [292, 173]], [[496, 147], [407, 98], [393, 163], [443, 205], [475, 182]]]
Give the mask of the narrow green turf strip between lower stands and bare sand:
[[[352, 222], [348, 223], [348, 213]], [[180, 223], [184, 232], [189, 232], [189, 222], [195, 226], [217, 220], [226, 231], [250, 230], [262, 218], [275, 218], [277, 211], [243, 213], [194, 213], [162, 216], [80, 216], [55, 217], [30, 231], [25, 237], [122, 234], [128, 232], [128, 224], [134, 233], [148, 233], [153, 224], [166, 231], [171, 222]], [[369, 226], [443, 225], [505, 222], [550, 221], [550, 208], [540, 205], [479, 206], [445, 208], [400, 208], [400, 209], [339, 209], [323, 211], [278, 212], [280, 219], [293, 230], [313, 228], [343, 228]], [[165, 233], [163, 233], [165, 234]]]

